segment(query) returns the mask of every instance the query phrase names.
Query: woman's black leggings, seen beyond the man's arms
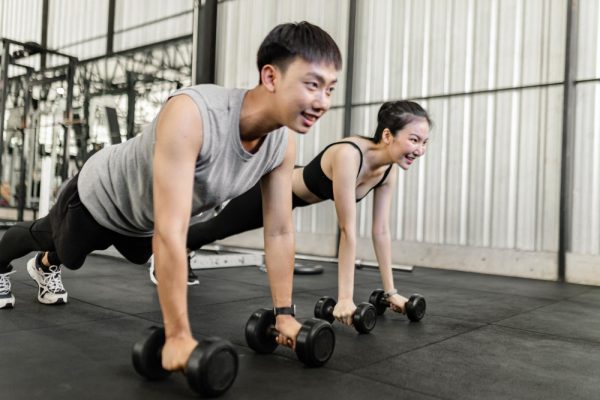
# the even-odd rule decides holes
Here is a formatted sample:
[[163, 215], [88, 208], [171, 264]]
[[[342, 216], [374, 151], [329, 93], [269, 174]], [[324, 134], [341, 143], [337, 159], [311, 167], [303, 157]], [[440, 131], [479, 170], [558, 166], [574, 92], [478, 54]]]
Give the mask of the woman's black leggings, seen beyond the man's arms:
[[[292, 208], [307, 206], [304, 200], [292, 193]], [[214, 218], [191, 225], [187, 247], [197, 250], [216, 240], [263, 226], [262, 193], [260, 182], [246, 193], [231, 200]]]

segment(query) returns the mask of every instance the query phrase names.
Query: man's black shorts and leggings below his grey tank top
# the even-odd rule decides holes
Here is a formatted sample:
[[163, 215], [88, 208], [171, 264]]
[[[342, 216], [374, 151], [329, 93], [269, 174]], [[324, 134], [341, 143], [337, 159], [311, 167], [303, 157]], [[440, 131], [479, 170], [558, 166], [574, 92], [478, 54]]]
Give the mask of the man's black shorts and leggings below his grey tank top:
[[0, 240], [0, 273], [32, 251], [48, 251], [52, 264], [80, 268], [87, 255], [114, 245], [129, 261], [144, 264], [152, 254], [151, 237], [132, 237], [104, 228], [79, 199], [77, 176], [61, 191], [44, 218], [17, 224]]

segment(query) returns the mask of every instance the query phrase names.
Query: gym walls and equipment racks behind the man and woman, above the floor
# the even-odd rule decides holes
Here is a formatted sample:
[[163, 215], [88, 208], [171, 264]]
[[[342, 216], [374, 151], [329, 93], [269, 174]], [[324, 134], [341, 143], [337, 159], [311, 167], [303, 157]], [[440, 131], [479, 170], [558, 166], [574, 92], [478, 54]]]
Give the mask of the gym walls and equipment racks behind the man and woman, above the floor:
[[[5, 223], [43, 215], [176, 88], [253, 87], [260, 40], [300, 20], [333, 36], [344, 69], [298, 164], [372, 134], [386, 100], [416, 100], [435, 122], [427, 156], [399, 174], [395, 263], [600, 284], [595, 0], [1, 0]], [[361, 259], [374, 259], [370, 210], [359, 204]], [[299, 253], [336, 255], [331, 203], [295, 223]], [[225, 243], [262, 246], [255, 233]]]

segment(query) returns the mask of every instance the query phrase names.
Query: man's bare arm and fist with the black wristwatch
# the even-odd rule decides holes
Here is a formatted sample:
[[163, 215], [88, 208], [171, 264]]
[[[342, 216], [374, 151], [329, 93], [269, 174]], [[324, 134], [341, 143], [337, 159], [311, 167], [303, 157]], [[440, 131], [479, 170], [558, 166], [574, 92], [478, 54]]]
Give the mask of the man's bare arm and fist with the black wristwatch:
[[[292, 305], [294, 278], [294, 225], [292, 222], [292, 171], [296, 158], [296, 134], [288, 132], [283, 163], [261, 179], [265, 262], [275, 307]], [[279, 344], [294, 346], [300, 324], [289, 315], [278, 315]]]

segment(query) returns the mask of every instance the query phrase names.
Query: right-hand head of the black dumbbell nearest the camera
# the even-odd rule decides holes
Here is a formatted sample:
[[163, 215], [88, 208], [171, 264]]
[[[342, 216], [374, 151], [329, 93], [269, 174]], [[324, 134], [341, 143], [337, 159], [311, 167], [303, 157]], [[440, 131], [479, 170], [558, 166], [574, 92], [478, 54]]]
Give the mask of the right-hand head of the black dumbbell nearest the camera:
[[210, 337], [198, 341], [188, 360], [185, 375], [194, 391], [214, 397], [229, 389], [237, 371], [238, 355], [231, 343]]

